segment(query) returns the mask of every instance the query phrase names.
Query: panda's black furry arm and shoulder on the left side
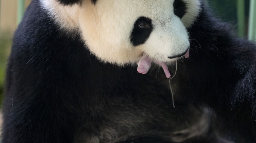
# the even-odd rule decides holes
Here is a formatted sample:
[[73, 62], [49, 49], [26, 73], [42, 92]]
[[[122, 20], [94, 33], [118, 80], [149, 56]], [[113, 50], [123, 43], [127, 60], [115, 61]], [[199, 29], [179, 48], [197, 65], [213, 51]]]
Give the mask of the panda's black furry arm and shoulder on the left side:
[[3, 109], [5, 143], [71, 143], [81, 126], [83, 87], [73, 83], [82, 78], [70, 69], [79, 67], [73, 46], [83, 44], [62, 36], [36, 9], [38, 3], [32, 1], [14, 36]]

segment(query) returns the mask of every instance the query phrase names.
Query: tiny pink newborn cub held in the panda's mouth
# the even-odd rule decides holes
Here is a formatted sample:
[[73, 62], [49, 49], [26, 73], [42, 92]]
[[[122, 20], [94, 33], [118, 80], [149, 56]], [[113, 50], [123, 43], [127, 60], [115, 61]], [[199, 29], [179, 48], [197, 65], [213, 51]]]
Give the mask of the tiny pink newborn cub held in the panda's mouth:
[[[185, 58], [189, 58], [189, 49], [188, 51], [183, 55]], [[137, 71], [141, 74], [146, 74], [148, 72], [148, 70], [150, 69], [151, 67], [151, 63], [154, 62], [158, 65], [160, 65], [163, 70], [164, 70], [164, 73], [165, 73], [165, 76], [167, 78], [170, 78], [171, 77], [171, 74], [168, 70], [168, 66], [165, 62], [160, 62], [160, 61], [153, 61], [151, 58], [148, 57], [148, 55], [144, 54], [142, 56], [142, 59], [137, 63], [138, 64], [138, 68], [137, 68]]]

